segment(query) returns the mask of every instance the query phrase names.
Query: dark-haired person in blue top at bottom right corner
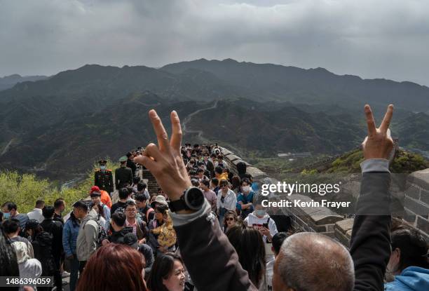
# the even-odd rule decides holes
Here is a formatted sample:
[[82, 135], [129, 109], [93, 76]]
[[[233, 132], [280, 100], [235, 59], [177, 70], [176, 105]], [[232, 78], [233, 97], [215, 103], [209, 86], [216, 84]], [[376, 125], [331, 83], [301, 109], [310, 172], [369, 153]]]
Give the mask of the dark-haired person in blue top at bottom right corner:
[[392, 234], [387, 271], [395, 276], [386, 291], [429, 290], [428, 243], [418, 230], [401, 226]]

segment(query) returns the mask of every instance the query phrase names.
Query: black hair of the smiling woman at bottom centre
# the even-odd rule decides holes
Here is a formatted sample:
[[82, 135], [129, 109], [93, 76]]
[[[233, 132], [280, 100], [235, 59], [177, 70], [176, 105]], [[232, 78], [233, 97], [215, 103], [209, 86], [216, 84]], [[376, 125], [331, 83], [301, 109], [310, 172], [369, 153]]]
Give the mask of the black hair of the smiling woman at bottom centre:
[[147, 287], [149, 290], [168, 291], [167, 287], [163, 284], [163, 279], [168, 279], [170, 277], [175, 260], [183, 265], [182, 258], [172, 252], [161, 253], [156, 256], [151, 273], [149, 274], [149, 279], [147, 280]]

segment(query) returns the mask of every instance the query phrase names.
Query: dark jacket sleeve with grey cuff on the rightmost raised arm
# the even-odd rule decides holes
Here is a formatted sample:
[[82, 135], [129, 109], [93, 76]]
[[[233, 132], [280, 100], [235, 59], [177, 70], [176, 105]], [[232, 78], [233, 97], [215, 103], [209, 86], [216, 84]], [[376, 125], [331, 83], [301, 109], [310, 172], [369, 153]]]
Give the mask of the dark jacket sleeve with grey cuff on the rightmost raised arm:
[[350, 255], [355, 264], [355, 291], [384, 289], [383, 277], [390, 257], [389, 185], [390, 173], [387, 171], [362, 174], [350, 241]]

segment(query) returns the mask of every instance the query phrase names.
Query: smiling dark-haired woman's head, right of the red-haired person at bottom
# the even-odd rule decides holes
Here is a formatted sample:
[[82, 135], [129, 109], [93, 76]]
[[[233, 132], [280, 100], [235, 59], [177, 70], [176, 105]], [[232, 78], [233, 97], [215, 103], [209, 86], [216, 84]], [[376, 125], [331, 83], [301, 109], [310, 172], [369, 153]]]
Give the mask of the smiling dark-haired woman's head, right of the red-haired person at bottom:
[[147, 285], [151, 291], [183, 291], [185, 274], [182, 258], [172, 252], [158, 255]]

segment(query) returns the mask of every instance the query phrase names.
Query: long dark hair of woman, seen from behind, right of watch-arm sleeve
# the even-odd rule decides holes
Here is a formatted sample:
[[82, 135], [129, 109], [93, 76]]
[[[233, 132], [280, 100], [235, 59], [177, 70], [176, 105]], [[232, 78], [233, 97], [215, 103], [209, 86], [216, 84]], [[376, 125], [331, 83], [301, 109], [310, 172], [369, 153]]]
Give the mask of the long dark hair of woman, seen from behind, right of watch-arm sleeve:
[[249, 273], [252, 283], [258, 288], [263, 286], [266, 257], [264, 241], [259, 231], [236, 224], [226, 231], [226, 236], [236, 249], [238, 261]]

